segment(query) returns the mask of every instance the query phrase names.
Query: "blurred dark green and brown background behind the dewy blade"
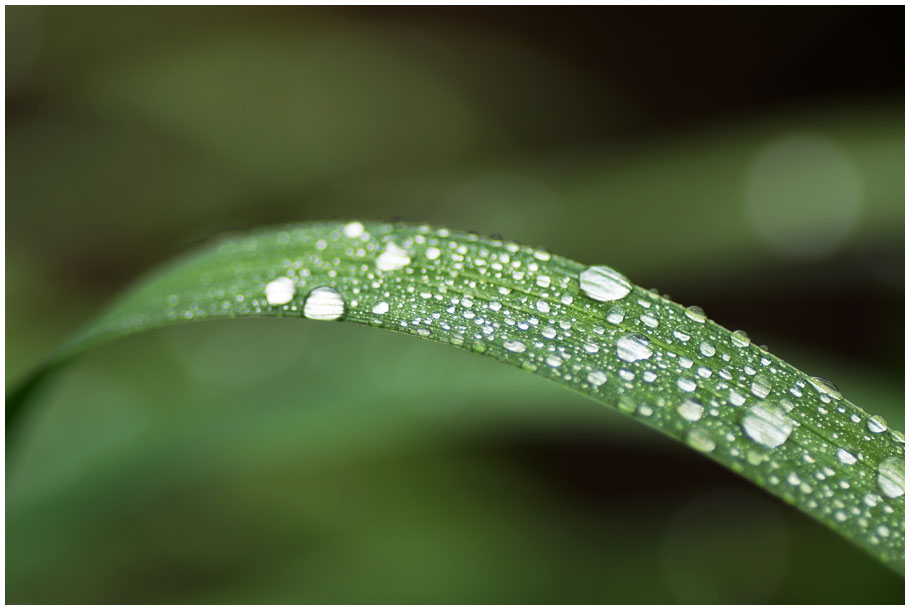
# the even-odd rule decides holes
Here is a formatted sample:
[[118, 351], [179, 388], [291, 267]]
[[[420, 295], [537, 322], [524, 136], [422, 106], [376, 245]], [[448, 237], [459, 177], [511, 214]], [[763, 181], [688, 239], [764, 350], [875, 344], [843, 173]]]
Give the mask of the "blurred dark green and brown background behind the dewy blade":
[[[5, 14], [8, 388], [219, 231], [404, 217], [615, 265], [904, 428], [899, 7]], [[903, 591], [628, 418], [362, 327], [105, 345], [7, 455], [11, 603]]]

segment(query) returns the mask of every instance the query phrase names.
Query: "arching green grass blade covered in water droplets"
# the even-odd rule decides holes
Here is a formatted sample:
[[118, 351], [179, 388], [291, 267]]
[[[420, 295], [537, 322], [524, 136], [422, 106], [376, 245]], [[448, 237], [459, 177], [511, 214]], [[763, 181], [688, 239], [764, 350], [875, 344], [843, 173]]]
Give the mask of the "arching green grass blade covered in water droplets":
[[[48, 367], [112, 337], [240, 316], [383, 327], [547, 377], [678, 439], [903, 572], [903, 434], [697, 307], [610, 267], [516, 243], [361, 222], [230, 238], [146, 277]], [[8, 435], [44, 376], [8, 398]]]

